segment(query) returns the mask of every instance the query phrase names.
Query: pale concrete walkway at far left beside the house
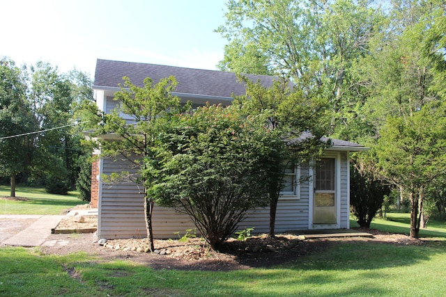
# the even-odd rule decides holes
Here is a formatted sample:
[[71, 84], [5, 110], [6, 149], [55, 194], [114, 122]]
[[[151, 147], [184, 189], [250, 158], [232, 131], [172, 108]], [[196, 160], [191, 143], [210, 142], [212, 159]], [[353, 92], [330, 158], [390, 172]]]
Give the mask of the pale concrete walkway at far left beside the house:
[[51, 230], [59, 224], [63, 216], [3, 215], [0, 218], [37, 218], [36, 222], [2, 243], [5, 246], [31, 247], [41, 246], [51, 234]]

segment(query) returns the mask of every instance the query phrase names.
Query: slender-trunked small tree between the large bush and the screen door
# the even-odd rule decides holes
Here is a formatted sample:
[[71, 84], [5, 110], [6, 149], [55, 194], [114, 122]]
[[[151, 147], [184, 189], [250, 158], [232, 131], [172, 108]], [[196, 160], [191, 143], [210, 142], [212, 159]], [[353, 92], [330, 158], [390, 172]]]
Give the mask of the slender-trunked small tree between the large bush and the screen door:
[[[327, 101], [319, 96], [308, 97], [300, 90], [291, 90], [286, 81], [275, 81], [271, 88], [240, 77], [246, 84], [246, 95], [236, 97], [233, 104], [245, 115], [262, 114], [263, 125], [282, 139], [270, 155], [268, 193], [270, 206], [269, 236], [275, 236], [277, 203], [284, 187], [284, 173], [289, 162], [297, 166], [308, 163], [323, 153], [330, 143], [323, 143], [328, 131]], [[308, 133], [309, 132], [309, 133]], [[305, 134], [310, 137], [301, 137]]]

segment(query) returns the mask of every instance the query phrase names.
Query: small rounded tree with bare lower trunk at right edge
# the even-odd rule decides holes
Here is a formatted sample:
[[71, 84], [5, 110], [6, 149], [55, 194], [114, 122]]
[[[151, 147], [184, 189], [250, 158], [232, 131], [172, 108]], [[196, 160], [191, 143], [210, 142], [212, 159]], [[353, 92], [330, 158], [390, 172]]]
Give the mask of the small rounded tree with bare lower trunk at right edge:
[[446, 174], [446, 104], [430, 102], [412, 117], [388, 118], [377, 148], [381, 172], [410, 199], [410, 237], [418, 237], [424, 195]]

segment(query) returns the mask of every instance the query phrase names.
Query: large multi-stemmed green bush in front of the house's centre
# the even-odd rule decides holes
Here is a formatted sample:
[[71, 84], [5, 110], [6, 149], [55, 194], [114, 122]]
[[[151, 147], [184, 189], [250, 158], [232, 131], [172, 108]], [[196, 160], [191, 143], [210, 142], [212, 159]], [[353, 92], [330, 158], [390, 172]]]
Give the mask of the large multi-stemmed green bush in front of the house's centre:
[[164, 126], [150, 194], [187, 214], [214, 249], [245, 212], [268, 204], [271, 155], [282, 145], [264, 118], [236, 106], [203, 106]]

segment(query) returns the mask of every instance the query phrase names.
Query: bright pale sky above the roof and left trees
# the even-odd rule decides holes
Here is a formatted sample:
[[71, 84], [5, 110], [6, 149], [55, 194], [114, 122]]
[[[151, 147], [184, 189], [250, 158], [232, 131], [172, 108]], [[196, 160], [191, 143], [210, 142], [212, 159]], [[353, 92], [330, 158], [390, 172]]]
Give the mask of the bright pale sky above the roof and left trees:
[[226, 0], [0, 0], [0, 58], [93, 78], [96, 59], [215, 70]]

